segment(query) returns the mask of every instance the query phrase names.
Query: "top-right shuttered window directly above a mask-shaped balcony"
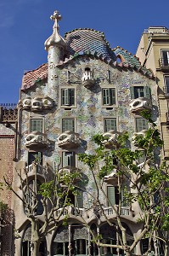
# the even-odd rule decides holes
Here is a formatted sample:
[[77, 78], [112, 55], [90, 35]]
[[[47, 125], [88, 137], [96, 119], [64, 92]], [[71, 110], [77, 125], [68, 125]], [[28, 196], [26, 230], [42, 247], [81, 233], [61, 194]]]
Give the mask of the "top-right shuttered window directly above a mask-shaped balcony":
[[131, 86], [130, 87], [131, 99], [140, 97], [150, 98], [151, 92], [149, 86]]

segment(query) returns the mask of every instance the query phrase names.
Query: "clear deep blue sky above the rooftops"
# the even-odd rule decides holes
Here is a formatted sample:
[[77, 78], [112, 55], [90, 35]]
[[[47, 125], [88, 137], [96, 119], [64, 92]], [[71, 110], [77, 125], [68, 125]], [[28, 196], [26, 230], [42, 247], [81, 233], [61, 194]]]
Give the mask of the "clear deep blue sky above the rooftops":
[[45, 40], [51, 35], [54, 10], [64, 36], [75, 28], [104, 32], [111, 48], [135, 54], [144, 29], [169, 28], [168, 0], [0, 0], [0, 103], [18, 102], [25, 70], [47, 62]]

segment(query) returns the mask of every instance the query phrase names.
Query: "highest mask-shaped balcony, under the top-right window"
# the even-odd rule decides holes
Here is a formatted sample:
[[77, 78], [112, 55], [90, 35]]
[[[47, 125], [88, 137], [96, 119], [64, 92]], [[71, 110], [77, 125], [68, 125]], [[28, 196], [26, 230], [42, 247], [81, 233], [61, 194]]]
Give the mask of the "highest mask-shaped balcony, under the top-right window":
[[142, 110], [149, 110], [152, 109], [151, 101], [148, 98], [140, 97], [137, 99], [133, 99], [130, 102], [130, 111], [132, 113], [139, 113]]

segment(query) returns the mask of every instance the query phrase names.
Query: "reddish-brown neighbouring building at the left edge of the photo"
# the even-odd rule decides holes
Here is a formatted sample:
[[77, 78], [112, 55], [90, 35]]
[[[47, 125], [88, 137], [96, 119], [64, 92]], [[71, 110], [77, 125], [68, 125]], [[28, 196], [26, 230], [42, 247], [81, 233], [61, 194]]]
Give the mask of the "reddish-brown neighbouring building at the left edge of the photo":
[[[17, 119], [16, 104], [0, 106], [0, 183], [4, 182], [3, 177], [6, 177], [10, 183], [13, 181]], [[14, 248], [12, 192], [3, 186], [3, 189], [0, 189], [0, 198], [0, 255], [12, 255], [12, 248]], [[3, 211], [2, 203], [8, 206], [5, 211]]]

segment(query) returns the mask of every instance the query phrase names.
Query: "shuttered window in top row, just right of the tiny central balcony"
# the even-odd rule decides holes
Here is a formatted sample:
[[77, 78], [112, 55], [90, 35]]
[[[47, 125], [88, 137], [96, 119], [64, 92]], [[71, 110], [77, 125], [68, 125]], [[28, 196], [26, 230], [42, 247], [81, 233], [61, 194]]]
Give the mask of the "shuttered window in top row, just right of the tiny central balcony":
[[115, 105], [115, 88], [102, 88], [102, 103], [106, 108]]

